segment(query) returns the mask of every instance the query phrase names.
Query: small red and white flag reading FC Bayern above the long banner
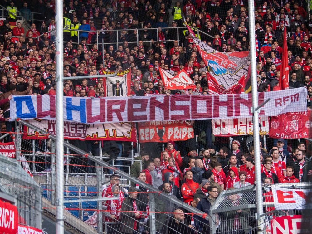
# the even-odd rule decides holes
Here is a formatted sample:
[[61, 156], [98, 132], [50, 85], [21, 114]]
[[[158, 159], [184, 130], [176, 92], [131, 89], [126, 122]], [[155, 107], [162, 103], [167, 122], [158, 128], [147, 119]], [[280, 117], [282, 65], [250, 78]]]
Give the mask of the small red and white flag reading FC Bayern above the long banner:
[[172, 76], [167, 71], [159, 68], [159, 73], [161, 79], [163, 80], [163, 86], [166, 89], [170, 90], [182, 90], [182, 89], [195, 89], [196, 85], [194, 84], [193, 80], [188, 76], [186, 71], [182, 69], [178, 75]]

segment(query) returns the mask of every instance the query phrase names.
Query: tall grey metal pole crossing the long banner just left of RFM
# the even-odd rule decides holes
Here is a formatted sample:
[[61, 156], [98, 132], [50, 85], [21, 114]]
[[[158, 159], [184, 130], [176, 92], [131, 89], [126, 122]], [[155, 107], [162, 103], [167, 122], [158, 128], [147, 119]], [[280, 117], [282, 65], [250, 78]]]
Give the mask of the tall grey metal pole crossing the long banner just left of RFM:
[[249, 3], [249, 33], [250, 33], [250, 58], [251, 58], [251, 91], [252, 91], [252, 112], [253, 112], [253, 137], [255, 146], [255, 183], [256, 183], [256, 203], [257, 203], [257, 223], [258, 233], [264, 233], [263, 201], [262, 201], [262, 184], [261, 184], [261, 163], [259, 147], [259, 112], [258, 107], [258, 89], [257, 89], [257, 71], [256, 71], [256, 36], [255, 36], [255, 4], [254, 1], [248, 0]]

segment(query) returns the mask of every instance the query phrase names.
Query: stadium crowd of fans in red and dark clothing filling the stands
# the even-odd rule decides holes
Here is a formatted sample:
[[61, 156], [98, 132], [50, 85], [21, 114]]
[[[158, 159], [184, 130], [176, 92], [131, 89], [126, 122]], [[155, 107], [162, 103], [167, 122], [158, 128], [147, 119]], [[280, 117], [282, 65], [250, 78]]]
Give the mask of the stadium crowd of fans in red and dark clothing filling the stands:
[[[280, 65], [285, 46], [283, 29], [286, 27], [289, 86], [307, 87], [309, 108], [312, 100], [312, 16], [307, 18], [306, 6], [301, 0], [255, 1], [255, 4], [258, 91], [279, 90]], [[0, 120], [5, 121], [9, 118], [7, 102], [11, 95], [55, 95], [56, 33], [51, 30], [57, 26], [54, 18], [55, 0], [3, 1], [2, 5], [8, 10], [8, 16], [0, 27], [0, 100], [6, 102], [1, 106], [1, 117], [5, 119]], [[31, 23], [31, 12], [40, 12], [41, 15], [37, 16], [40, 21]], [[105, 97], [103, 78], [77, 80], [75, 77], [100, 75], [105, 70], [123, 71], [130, 67], [131, 95], [208, 95], [207, 68], [191, 35], [185, 28], [174, 29], [183, 27], [183, 16], [195, 32], [203, 32], [199, 33], [200, 39], [215, 50], [250, 50], [248, 4], [243, 0], [184, 0], [175, 4], [170, 0], [66, 0], [63, 12], [64, 96]], [[17, 21], [16, 15], [22, 16], [24, 22]], [[15, 23], [15, 26], [11, 26]], [[173, 29], [166, 29], [169, 25]], [[25, 30], [26, 27], [29, 29]], [[82, 31], [78, 33], [70, 29]], [[120, 30], [118, 38], [116, 31], [113, 31], [117, 29]], [[104, 48], [100, 47], [102, 44], [98, 44], [97, 39], [103, 40]], [[173, 76], [185, 69], [196, 84], [196, 89], [166, 90], [160, 79], [159, 67]], [[254, 184], [253, 147], [261, 149], [264, 182], [307, 182], [312, 174], [310, 155], [302, 141], [298, 145], [293, 144], [291, 152], [287, 151], [284, 139], [278, 139], [269, 151], [261, 145], [247, 149], [240, 140], [232, 141], [232, 149], [225, 146], [229, 144], [222, 142], [216, 147], [211, 144], [211, 122], [202, 123], [202, 130], [210, 129], [210, 133], [206, 132], [201, 147], [197, 146], [195, 139], [190, 139], [183, 147], [183, 154], [180, 154], [178, 145], [169, 141], [167, 148], [159, 154], [141, 153], [136, 159], [142, 160], [143, 170], [140, 162], [135, 162], [131, 166], [131, 175], [206, 211], [222, 190]], [[206, 128], [209, 124], [210, 128]], [[6, 126], [1, 125], [1, 131], [12, 131], [12, 127], [11, 123], [6, 122]], [[144, 219], [140, 211], [146, 211], [146, 205], [140, 205], [140, 202], [145, 204], [148, 198], [144, 195], [124, 198], [118, 184], [118, 176], [112, 175], [110, 185], [103, 191], [103, 196], [119, 194], [116, 200], [112, 200], [115, 201], [115, 213], [106, 214], [105, 221], [125, 222], [123, 210], [138, 211], [133, 213], [131, 228], [121, 227], [122, 233], [133, 233], [133, 229], [138, 228], [135, 220]], [[129, 191], [146, 192], [138, 185]], [[113, 203], [106, 205], [109, 207]], [[159, 203], [160, 206], [162, 204]], [[184, 222], [179, 209], [173, 212], [176, 220]], [[191, 219], [188, 221], [189, 228], [205, 232], [207, 227], [196, 221], [191, 223]], [[248, 225], [252, 227], [252, 223]], [[168, 227], [172, 227], [168, 233], [176, 233], [172, 230], [180, 230], [178, 226], [178, 222], [168, 222]], [[164, 233], [160, 230], [158, 232]], [[184, 228], [180, 232], [189, 233], [190, 230]]]

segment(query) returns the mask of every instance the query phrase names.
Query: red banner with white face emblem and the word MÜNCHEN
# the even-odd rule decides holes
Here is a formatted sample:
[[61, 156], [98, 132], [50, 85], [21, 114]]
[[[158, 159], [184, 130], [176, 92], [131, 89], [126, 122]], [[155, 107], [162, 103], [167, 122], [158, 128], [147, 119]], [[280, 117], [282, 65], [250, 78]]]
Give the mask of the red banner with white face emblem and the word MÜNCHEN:
[[297, 139], [309, 136], [312, 123], [309, 115], [312, 112], [289, 112], [272, 116], [270, 124], [270, 137], [283, 139]]

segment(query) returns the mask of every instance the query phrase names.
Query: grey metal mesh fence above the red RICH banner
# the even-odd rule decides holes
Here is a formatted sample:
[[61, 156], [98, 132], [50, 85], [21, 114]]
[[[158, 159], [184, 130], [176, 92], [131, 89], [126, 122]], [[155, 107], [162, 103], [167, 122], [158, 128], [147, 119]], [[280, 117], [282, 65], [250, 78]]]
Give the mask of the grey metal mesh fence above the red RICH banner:
[[8, 196], [15, 201], [14, 205], [17, 206], [19, 224], [41, 229], [40, 186], [15, 160], [3, 155], [0, 155], [0, 193], [2, 198]]

